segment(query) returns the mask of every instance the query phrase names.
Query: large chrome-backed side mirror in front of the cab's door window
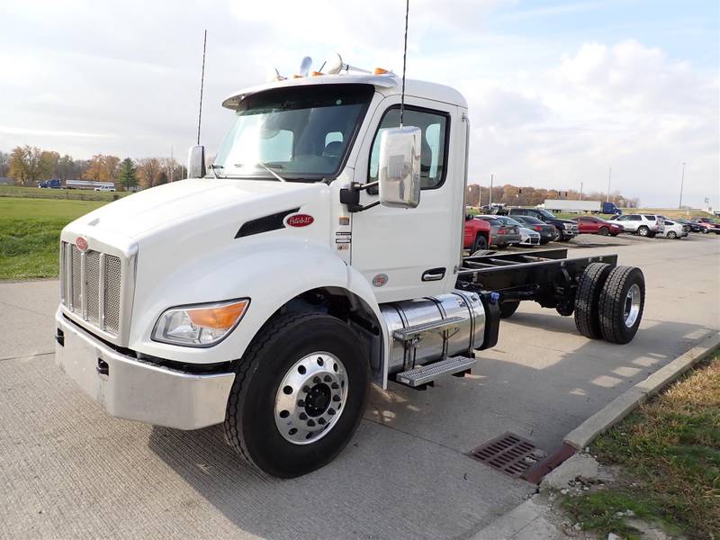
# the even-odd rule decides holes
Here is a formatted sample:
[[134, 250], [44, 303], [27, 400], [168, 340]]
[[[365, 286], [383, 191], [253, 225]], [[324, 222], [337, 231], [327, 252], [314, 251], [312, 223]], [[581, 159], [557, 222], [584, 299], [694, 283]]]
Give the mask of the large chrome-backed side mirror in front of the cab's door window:
[[421, 133], [412, 127], [383, 131], [378, 167], [383, 206], [415, 208], [420, 203]]

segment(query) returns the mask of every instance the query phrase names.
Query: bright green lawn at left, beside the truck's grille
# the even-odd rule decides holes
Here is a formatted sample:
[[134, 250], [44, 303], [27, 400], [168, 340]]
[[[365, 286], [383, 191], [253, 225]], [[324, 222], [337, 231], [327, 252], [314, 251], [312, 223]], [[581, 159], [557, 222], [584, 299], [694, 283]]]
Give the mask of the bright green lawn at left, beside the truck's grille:
[[0, 197], [0, 280], [57, 276], [60, 230], [104, 203]]

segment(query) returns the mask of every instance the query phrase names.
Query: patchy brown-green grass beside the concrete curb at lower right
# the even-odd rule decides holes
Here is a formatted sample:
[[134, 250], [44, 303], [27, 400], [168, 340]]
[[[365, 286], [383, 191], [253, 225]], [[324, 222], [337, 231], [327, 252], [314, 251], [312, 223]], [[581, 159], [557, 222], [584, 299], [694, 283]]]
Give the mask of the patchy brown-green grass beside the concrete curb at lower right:
[[675, 528], [670, 532], [720, 538], [720, 354], [641, 405], [592, 448], [621, 474], [607, 490], [564, 501], [584, 528], [639, 538], [616, 516], [631, 509]]

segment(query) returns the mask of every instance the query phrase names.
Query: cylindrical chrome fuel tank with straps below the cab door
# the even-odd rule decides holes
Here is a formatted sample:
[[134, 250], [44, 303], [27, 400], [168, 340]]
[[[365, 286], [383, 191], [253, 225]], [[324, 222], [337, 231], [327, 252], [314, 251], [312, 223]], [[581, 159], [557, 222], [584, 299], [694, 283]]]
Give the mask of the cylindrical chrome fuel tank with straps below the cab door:
[[[470, 354], [482, 346], [485, 331], [485, 309], [476, 293], [442, 294], [418, 300], [392, 302], [380, 308], [391, 336], [390, 357], [387, 360], [388, 374], [395, 374], [416, 365], [425, 365], [444, 356]], [[407, 329], [419, 324], [459, 317], [459, 329], [437, 330], [424, 335], [415, 347], [392, 338], [395, 330]]]

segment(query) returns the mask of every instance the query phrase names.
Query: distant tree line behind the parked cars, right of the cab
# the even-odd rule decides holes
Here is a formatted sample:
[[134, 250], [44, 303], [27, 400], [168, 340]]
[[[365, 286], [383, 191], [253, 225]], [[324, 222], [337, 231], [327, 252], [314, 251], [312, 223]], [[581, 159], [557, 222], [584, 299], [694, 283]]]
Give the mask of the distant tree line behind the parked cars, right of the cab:
[[[518, 206], [536, 206], [542, 204], [545, 199], [567, 199], [571, 201], [606, 201], [608, 193], [588, 192], [581, 193], [572, 189], [556, 190], [545, 189], [541, 187], [532, 187], [529, 185], [495, 185], [492, 188], [492, 202], [502, 204], [512, 204]], [[624, 196], [620, 192], [610, 193], [610, 202], [615, 202], [620, 208], [637, 208], [640, 200], [637, 197], [630, 198]], [[468, 206], [482, 206], [490, 203], [490, 187], [484, 187], [479, 184], [470, 184], [467, 186], [465, 193], [465, 203]]]

